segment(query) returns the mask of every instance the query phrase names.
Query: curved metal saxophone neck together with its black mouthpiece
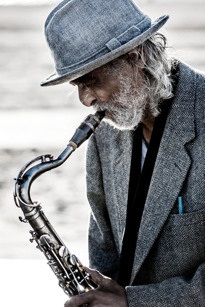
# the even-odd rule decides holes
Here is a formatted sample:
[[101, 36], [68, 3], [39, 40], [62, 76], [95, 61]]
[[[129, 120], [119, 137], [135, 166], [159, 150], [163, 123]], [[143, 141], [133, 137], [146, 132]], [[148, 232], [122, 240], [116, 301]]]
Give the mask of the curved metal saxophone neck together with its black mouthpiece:
[[[14, 188], [14, 200], [18, 207], [27, 214], [34, 207], [39, 206], [40, 202], [32, 202], [30, 197], [30, 188], [34, 180], [41, 174], [54, 169], [63, 164], [71, 153], [85, 142], [99, 127], [104, 117], [104, 111], [97, 111], [95, 114], [88, 115], [76, 129], [69, 145], [53, 159], [53, 155], [42, 155], [28, 162], [19, 172]], [[37, 162], [37, 163], [36, 163]], [[34, 164], [36, 163], [36, 164]], [[34, 165], [33, 165], [34, 164]]]

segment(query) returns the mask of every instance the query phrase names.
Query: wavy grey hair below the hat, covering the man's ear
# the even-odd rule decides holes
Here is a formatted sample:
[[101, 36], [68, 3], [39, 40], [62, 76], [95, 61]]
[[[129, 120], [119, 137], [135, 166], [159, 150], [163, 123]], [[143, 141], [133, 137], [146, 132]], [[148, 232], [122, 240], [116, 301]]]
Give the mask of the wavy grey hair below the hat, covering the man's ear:
[[168, 56], [167, 39], [163, 34], [155, 33], [136, 49], [104, 65], [104, 69], [108, 74], [114, 72], [117, 76], [125, 62], [130, 63], [135, 74], [133, 77], [138, 80], [139, 60], [143, 63], [141, 68], [147, 89], [145, 113], [146, 116], [157, 117], [160, 114], [160, 102], [173, 96], [171, 66], [174, 61]]

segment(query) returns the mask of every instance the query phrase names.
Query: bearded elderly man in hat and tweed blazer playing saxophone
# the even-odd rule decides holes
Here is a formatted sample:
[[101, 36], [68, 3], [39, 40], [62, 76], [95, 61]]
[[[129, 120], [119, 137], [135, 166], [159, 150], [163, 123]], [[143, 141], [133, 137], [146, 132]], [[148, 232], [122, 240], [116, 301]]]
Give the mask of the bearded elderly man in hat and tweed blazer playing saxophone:
[[45, 22], [56, 71], [41, 85], [69, 81], [105, 110], [86, 165], [99, 287], [66, 307], [205, 306], [205, 78], [167, 55], [167, 20], [131, 0], [64, 0]]

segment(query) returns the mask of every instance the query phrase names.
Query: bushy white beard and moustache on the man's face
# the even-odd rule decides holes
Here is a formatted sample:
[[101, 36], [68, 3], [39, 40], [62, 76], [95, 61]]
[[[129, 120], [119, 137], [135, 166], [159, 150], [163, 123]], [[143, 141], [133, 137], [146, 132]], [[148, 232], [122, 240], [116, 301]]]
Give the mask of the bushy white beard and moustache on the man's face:
[[136, 85], [127, 76], [118, 76], [120, 91], [113, 95], [108, 103], [95, 104], [95, 111], [106, 110], [104, 122], [119, 130], [133, 130], [144, 116], [146, 108], [147, 87], [144, 84]]

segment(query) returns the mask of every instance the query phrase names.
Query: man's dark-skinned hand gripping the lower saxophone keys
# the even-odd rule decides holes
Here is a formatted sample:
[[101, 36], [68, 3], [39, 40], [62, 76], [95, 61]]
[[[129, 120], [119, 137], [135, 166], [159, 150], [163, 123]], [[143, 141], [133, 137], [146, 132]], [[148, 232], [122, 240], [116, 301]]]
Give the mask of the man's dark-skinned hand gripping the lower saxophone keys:
[[90, 307], [128, 307], [125, 288], [96, 270], [85, 269], [90, 274], [89, 278], [99, 287], [71, 297], [65, 302], [65, 307], [78, 307], [83, 304], [88, 304]]

